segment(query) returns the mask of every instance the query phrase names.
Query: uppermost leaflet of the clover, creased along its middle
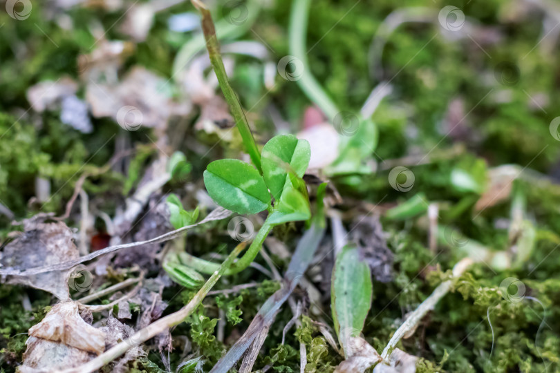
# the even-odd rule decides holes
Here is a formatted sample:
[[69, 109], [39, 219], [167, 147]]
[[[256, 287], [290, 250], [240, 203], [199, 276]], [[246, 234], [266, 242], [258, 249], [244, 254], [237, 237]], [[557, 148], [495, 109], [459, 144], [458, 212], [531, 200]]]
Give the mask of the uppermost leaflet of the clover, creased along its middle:
[[299, 140], [294, 135], [274, 136], [263, 146], [263, 176], [276, 200], [281, 198], [289, 171], [301, 178], [306, 172], [310, 157], [311, 148], [307, 140]]

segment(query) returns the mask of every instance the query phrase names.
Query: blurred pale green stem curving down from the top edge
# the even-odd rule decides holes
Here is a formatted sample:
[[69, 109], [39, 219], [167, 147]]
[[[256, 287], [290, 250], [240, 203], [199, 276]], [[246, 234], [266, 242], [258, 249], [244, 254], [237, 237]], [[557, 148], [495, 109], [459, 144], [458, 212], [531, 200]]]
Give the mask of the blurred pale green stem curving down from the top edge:
[[310, 65], [307, 60], [307, 52], [305, 50], [309, 4], [310, 0], [294, 0], [292, 3], [289, 30], [290, 54], [304, 64], [301, 77], [297, 80], [299, 88], [301, 88], [306, 96], [312, 102], [315, 102], [328, 119], [332, 121], [340, 111], [311, 74]]

